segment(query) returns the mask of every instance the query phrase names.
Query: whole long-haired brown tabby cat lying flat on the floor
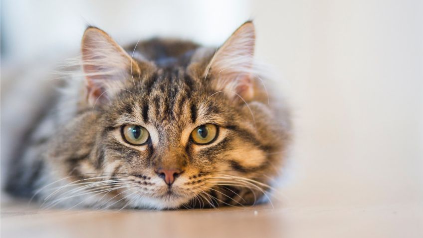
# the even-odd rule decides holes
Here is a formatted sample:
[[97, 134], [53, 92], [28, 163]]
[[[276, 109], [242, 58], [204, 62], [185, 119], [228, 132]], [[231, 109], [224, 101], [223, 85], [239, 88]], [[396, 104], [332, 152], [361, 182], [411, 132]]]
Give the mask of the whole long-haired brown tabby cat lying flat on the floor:
[[10, 163], [6, 190], [44, 208], [179, 209], [263, 201], [291, 123], [254, 63], [247, 21], [217, 49], [122, 48], [89, 26], [80, 69]]

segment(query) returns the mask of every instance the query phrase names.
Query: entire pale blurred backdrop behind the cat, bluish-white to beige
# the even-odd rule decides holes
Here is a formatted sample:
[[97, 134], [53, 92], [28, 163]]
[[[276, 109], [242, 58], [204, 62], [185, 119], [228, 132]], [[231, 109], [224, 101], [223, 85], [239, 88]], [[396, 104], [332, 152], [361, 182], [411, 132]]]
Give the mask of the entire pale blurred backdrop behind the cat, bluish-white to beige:
[[175, 36], [213, 46], [248, 19], [257, 58], [293, 109], [282, 208], [396, 208], [397, 219], [367, 217], [388, 219], [373, 234], [422, 234], [421, 0], [1, 0], [1, 160], [39, 80], [78, 53], [87, 24], [121, 44]]

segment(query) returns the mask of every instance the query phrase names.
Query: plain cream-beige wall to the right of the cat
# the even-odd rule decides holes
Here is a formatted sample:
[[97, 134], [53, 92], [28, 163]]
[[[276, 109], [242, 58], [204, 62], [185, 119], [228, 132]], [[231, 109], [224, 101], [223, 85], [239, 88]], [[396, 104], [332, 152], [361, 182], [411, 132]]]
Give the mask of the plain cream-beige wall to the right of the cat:
[[[294, 204], [423, 208], [422, 1], [256, 1], [289, 83]], [[298, 187], [301, 187], [299, 189]]]

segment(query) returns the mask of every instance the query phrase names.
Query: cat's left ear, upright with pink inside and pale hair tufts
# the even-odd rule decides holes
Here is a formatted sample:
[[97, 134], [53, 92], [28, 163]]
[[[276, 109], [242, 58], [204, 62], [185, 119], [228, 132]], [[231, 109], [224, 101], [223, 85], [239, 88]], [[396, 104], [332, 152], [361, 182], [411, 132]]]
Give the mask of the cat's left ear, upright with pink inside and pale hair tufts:
[[87, 100], [91, 104], [106, 102], [124, 87], [131, 73], [140, 73], [132, 57], [96, 27], [85, 30], [81, 51]]

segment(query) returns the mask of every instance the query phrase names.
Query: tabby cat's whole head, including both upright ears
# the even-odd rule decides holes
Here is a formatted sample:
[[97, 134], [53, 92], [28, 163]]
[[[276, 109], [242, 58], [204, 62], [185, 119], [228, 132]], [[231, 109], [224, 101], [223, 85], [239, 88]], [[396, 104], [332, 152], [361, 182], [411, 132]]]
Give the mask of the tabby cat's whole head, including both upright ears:
[[279, 170], [288, 132], [254, 69], [254, 44], [246, 22], [217, 50], [177, 55], [169, 43], [175, 62], [162, 65], [87, 28], [82, 66], [94, 116], [71, 126], [89, 148], [72, 173], [113, 181], [106, 198], [129, 207], [255, 202]]

